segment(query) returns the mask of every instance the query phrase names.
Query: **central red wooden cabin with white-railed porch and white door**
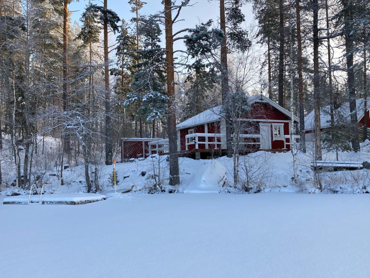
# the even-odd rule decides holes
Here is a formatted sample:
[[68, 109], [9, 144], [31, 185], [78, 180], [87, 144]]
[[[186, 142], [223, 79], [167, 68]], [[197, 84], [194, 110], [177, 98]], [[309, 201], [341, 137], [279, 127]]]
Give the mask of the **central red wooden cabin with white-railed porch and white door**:
[[[238, 137], [233, 135], [233, 142], [239, 142], [239, 153], [257, 149], [289, 150], [290, 112], [263, 95], [249, 97], [248, 102], [248, 113], [237, 119], [238, 124], [233, 124], [238, 127], [235, 131]], [[294, 117], [294, 123], [299, 123], [297, 117]], [[196, 158], [201, 158], [226, 151], [226, 121], [222, 106], [205, 110], [179, 123], [176, 128], [180, 152], [195, 153]], [[293, 135], [293, 138], [299, 136]]]

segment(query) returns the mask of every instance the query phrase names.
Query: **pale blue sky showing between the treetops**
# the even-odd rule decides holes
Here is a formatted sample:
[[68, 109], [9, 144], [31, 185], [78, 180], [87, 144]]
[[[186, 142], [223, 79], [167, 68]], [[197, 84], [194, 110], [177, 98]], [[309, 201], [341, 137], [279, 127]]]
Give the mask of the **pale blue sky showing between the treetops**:
[[[134, 14], [131, 13], [131, 8], [127, 2], [128, 0], [108, 0], [108, 8], [115, 11], [121, 19], [123, 18], [129, 21]], [[162, 0], [146, 0], [146, 2], [147, 4], [140, 10], [141, 14], [152, 14], [163, 9]], [[102, 1], [99, 0], [92, 0], [92, 3], [102, 5]], [[80, 20], [81, 14], [87, 4], [88, 0], [73, 1], [70, 4], [69, 10], [73, 11], [71, 16], [72, 22]], [[217, 23], [219, 18], [218, 1], [193, 0], [191, 4], [193, 4], [192, 7], [185, 7], [181, 10], [179, 19], [182, 19], [182, 21], [174, 25], [174, 33], [184, 28], [193, 27], [195, 24], [201, 21], [205, 22], [209, 19], [213, 19], [215, 24]], [[245, 23], [249, 25], [253, 21], [252, 4], [248, 3], [244, 5], [242, 11], [245, 14]], [[181, 41], [175, 42], [174, 48], [181, 49], [183, 47], [181, 44]]]

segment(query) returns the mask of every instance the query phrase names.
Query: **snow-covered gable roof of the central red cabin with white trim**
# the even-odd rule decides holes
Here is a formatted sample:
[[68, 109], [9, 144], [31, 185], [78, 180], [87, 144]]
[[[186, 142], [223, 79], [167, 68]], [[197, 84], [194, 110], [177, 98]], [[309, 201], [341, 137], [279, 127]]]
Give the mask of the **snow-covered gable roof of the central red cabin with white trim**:
[[[269, 103], [271, 106], [275, 107], [280, 112], [282, 112], [283, 114], [287, 115], [290, 118], [290, 112], [288, 110], [284, 109], [283, 107], [273, 102], [266, 96], [254, 95], [254, 96], [248, 97], [249, 105], [252, 105], [252, 103], [255, 103], [255, 102]], [[184, 122], [179, 123], [178, 125], [176, 125], [176, 129], [189, 128], [191, 126], [197, 126], [197, 125], [202, 125], [205, 123], [216, 122], [217, 120], [221, 119], [224, 115], [225, 114], [222, 111], [222, 105], [215, 106], [195, 116], [192, 116], [191, 118], [185, 120]], [[296, 122], [299, 122], [299, 119], [296, 116], [294, 116], [294, 120]]]

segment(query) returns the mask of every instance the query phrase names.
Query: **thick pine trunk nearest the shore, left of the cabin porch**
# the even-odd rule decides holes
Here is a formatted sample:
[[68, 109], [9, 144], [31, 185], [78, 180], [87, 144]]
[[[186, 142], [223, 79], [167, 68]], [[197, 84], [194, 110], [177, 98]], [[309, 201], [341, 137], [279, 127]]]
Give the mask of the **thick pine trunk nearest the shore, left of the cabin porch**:
[[172, 1], [164, 0], [166, 35], [166, 71], [168, 95], [168, 143], [169, 143], [169, 185], [180, 184], [179, 159], [177, 149], [176, 110], [175, 110], [175, 72], [174, 37], [172, 33]]

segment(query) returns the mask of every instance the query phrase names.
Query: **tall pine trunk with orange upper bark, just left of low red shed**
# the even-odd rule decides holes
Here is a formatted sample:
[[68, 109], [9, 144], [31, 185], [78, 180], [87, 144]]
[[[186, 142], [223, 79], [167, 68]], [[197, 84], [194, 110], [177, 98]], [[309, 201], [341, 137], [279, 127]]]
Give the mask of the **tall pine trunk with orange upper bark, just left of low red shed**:
[[[107, 9], [107, 0], [104, 0], [104, 9]], [[105, 82], [105, 165], [112, 165], [112, 135], [111, 135], [111, 105], [109, 84], [109, 52], [108, 52], [108, 22], [103, 23], [104, 35], [104, 82]]]

